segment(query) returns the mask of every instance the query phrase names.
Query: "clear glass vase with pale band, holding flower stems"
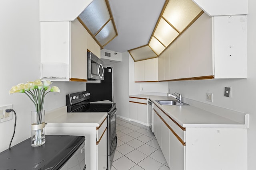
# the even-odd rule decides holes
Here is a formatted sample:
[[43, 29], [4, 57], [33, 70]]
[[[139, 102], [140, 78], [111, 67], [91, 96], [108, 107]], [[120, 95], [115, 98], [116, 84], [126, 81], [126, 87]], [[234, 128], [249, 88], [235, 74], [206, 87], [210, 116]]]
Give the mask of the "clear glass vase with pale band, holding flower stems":
[[31, 111], [31, 146], [39, 147], [45, 143], [45, 114]]

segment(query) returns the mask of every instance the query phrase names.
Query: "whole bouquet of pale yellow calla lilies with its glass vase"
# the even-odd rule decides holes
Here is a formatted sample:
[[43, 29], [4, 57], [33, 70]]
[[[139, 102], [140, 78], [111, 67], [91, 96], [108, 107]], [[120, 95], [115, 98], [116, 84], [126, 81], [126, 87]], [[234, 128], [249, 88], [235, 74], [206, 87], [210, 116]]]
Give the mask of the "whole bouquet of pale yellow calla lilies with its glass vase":
[[25, 93], [36, 107], [36, 111], [31, 113], [31, 146], [39, 147], [45, 143], [45, 122], [44, 122], [44, 97], [49, 92], [59, 92], [60, 89], [57, 86], [50, 85], [50, 80], [35, 80], [34, 82], [27, 82], [25, 84], [17, 84], [12, 86], [9, 94], [13, 93]]

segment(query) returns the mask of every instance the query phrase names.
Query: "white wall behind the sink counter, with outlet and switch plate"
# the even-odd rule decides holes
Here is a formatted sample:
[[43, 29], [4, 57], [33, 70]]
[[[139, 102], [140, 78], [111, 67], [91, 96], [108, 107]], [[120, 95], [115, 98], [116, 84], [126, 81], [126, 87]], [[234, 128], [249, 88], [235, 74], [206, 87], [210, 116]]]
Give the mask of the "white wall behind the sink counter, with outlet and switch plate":
[[[256, 167], [256, 1], [248, 0], [248, 78], [168, 82], [172, 92], [185, 98], [250, 114], [248, 129], [248, 170]], [[231, 87], [231, 97], [224, 97], [224, 87]], [[213, 102], [206, 102], [206, 92]], [[232, 142], [232, 141], [231, 141]]]

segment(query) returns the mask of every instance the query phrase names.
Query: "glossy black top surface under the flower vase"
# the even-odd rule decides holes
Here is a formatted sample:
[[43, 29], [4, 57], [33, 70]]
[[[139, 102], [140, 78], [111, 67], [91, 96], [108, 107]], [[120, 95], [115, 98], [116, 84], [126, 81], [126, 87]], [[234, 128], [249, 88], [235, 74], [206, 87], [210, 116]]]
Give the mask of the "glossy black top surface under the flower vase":
[[31, 147], [31, 138], [0, 153], [0, 170], [58, 170], [85, 141], [84, 136], [46, 135]]

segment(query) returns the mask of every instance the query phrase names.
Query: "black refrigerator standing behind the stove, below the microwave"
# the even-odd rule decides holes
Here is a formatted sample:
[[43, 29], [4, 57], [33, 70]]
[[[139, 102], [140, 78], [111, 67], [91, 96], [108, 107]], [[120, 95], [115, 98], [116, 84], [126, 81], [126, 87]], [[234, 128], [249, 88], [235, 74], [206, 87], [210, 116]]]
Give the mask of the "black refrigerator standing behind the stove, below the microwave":
[[104, 80], [100, 83], [86, 83], [86, 91], [90, 92], [90, 102], [110, 100], [113, 102], [113, 69], [104, 67]]

